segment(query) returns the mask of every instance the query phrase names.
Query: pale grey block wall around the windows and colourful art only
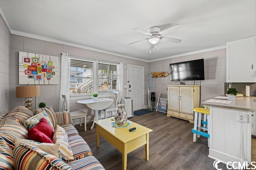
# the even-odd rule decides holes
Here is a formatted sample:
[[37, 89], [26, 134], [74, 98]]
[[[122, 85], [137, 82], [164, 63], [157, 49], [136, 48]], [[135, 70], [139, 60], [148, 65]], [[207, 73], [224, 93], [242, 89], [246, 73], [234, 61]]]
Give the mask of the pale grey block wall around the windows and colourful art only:
[[[10, 75], [6, 76], [5, 74], [2, 74], [0, 71], [0, 78], [10, 77], [10, 82], [9, 82], [10, 90], [8, 90], [8, 92], [10, 92], [10, 96], [8, 95], [8, 98], [10, 98], [10, 100], [8, 100], [7, 102], [8, 104], [10, 103], [10, 106], [6, 107], [6, 109], [13, 109], [16, 106], [24, 105], [24, 99], [16, 98], [16, 86], [18, 86], [18, 52], [19, 51], [57, 56], [59, 57], [60, 69], [61, 69], [61, 54], [62, 52], [66, 52], [74, 57], [79, 56], [79, 57], [88, 58], [88, 59], [98, 59], [101, 61], [124, 62], [124, 65], [136, 63], [136, 65], [138, 66], [144, 66], [145, 72], [148, 73], [147, 62], [126, 59], [123, 57], [99, 53], [96, 51], [90, 51], [86, 49], [80, 49], [77, 47], [71, 47], [68, 45], [62, 45], [58, 43], [42, 41], [42, 40], [33, 39], [29, 37], [11, 35], [10, 61], [12, 63], [10, 64], [10, 66], [7, 66], [10, 69]], [[3, 67], [4, 66], [5, 65], [3, 64]], [[124, 74], [126, 74], [126, 72], [124, 72]], [[147, 79], [148, 77], [145, 77], [145, 80]], [[5, 85], [6, 84], [4, 84], [4, 86]], [[40, 102], [44, 102], [46, 106], [52, 106], [54, 111], [59, 111], [60, 84], [39, 85], [39, 86], [40, 86], [40, 96], [32, 99], [33, 100], [32, 110], [34, 110], [35, 106], [38, 106]], [[144, 82], [144, 86], [148, 86], [147, 81]], [[0, 90], [1, 92], [2, 87], [0, 86], [0, 88], [1, 88]], [[147, 94], [145, 92], [145, 102], [147, 101], [146, 95]], [[126, 96], [126, 92], [124, 92], [124, 97], [125, 96]], [[3, 110], [6, 110], [6, 109], [3, 109]], [[77, 104], [76, 100], [70, 101], [70, 111], [74, 111], [77, 109], [83, 109], [84, 111], [87, 111], [90, 114], [90, 109], [88, 109], [88, 107], [81, 104]]]

